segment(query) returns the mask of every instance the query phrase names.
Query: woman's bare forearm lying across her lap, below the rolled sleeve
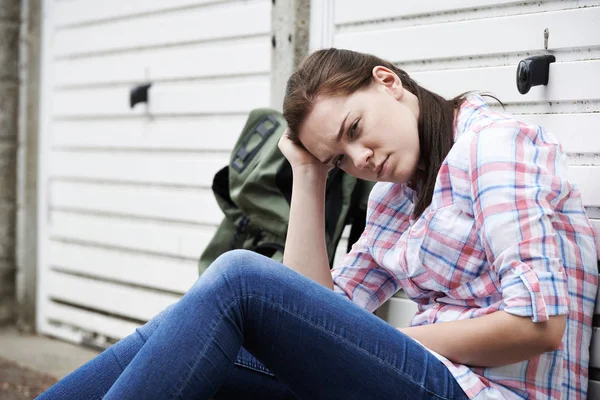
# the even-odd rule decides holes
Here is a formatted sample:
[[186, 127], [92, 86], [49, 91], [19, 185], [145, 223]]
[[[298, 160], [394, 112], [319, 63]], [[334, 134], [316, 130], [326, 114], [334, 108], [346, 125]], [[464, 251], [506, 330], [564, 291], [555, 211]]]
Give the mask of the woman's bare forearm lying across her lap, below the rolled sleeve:
[[561, 343], [566, 316], [533, 322], [498, 311], [484, 317], [402, 328], [401, 332], [447, 359], [477, 367], [528, 360]]

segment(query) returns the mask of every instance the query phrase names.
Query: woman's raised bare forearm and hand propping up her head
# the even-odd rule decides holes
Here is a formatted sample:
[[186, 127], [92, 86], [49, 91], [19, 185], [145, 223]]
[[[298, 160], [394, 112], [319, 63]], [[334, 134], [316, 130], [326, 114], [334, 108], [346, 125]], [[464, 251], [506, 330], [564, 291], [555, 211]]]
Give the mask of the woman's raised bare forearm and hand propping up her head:
[[325, 182], [332, 166], [292, 142], [287, 130], [279, 140], [279, 150], [294, 176], [283, 264], [333, 289], [325, 243]]

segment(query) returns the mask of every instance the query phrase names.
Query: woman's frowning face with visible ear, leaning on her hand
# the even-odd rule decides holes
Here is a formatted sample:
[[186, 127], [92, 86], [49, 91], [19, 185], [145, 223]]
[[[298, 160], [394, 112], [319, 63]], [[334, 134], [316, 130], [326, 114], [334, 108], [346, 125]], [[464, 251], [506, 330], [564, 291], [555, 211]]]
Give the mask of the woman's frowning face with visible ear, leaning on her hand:
[[357, 178], [406, 183], [420, 158], [417, 98], [385, 67], [369, 88], [317, 99], [300, 127], [304, 147]]

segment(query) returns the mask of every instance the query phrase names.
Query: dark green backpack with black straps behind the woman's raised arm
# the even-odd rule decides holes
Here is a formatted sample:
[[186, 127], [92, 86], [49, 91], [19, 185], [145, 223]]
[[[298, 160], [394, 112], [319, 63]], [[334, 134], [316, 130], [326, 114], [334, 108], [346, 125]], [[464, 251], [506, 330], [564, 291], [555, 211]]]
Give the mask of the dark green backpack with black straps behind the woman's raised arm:
[[[280, 112], [250, 113], [234, 146], [229, 165], [214, 177], [212, 190], [225, 213], [217, 232], [200, 256], [202, 274], [219, 255], [247, 249], [283, 260], [292, 168], [278, 148], [287, 124]], [[330, 266], [342, 231], [352, 225], [348, 250], [365, 227], [366, 205], [373, 182], [356, 179], [338, 168], [330, 171], [325, 194], [325, 237]]]

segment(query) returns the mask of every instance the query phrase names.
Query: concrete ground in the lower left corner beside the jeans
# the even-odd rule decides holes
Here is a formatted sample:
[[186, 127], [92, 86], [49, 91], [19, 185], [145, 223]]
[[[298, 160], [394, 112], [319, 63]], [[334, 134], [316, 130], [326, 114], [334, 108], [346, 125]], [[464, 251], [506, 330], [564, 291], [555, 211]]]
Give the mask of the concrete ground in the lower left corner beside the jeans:
[[97, 354], [60, 340], [0, 328], [0, 399], [33, 399]]

